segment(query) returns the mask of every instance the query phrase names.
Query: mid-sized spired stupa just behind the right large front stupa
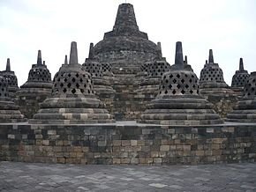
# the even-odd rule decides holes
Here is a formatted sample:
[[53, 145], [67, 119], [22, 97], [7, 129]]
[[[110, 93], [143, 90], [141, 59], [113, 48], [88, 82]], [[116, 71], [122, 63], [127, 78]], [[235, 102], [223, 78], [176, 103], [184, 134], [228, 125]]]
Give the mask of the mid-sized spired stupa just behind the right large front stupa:
[[237, 102], [237, 94], [224, 81], [222, 69], [215, 63], [212, 49], [200, 71], [200, 94], [214, 104], [215, 111], [223, 118]]

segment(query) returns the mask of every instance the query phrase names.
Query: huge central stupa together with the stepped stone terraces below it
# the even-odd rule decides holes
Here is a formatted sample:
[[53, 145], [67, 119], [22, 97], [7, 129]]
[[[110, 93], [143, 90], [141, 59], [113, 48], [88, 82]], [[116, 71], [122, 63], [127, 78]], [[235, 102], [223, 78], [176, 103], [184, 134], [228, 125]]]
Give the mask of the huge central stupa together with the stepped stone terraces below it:
[[115, 76], [113, 114], [117, 120], [132, 120], [144, 110], [137, 90], [137, 77], [144, 63], [154, 63], [158, 57], [157, 45], [148, 40], [147, 33], [139, 31], [132, 4], [120, 4], [113, 30], [105, 33], [94, 46], [99, 63], [109, 63]]

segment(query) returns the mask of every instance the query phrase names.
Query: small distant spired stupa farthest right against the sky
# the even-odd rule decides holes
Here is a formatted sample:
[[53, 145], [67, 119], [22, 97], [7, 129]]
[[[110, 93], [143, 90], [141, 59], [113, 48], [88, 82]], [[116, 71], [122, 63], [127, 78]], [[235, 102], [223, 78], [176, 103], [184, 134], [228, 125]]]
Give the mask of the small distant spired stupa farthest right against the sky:
[[243, 58], [240, 58], [239, 62], [239, 70], [236, 70], [235, 75], [232, 78], [231, 88], [234, 92], [236, 92], [239, 96], [243, 95], [245, 83], [249, 78], [249, 74], [247, 70], [244, 70]]

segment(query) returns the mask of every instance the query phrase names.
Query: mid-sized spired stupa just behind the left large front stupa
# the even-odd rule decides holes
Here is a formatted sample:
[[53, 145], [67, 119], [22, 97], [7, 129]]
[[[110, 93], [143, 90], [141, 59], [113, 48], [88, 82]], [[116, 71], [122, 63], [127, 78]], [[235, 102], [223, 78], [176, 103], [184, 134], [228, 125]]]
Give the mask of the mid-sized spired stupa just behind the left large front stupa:
[[41, 50], [39, 50], [37, 63], [32, 65], [26, 83], [20, 86], [19, 92], [16, 92], [16, 102], [20, 107], [20, 111], [27, 118], [32, 118], [38, 111], [39, 104], [49, 97], [51, 87], [51, 74], [47, 69], [47, 65], [42, 63]]

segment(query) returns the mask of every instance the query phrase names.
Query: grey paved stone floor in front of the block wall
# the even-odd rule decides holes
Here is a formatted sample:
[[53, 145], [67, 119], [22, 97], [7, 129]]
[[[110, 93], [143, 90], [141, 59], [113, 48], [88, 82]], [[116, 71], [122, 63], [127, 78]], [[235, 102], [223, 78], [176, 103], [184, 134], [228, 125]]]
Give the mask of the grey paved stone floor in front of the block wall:
[[0, 162], [0, 191], [256, 191], [256, 164], [80, 166]]

